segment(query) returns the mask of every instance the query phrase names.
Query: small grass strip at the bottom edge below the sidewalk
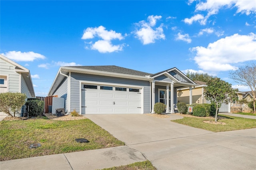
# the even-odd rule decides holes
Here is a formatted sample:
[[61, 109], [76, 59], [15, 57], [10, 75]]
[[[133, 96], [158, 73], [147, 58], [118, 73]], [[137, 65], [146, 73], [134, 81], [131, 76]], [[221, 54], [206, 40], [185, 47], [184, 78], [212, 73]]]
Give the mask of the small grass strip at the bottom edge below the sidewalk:
[[124, 166], [115, 166], [112, 168], [105, 168], [103, 170], [156, 170], [150, 161], [135, 162], [133, 164]]

